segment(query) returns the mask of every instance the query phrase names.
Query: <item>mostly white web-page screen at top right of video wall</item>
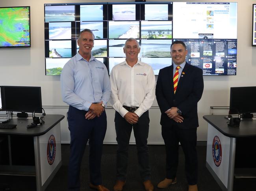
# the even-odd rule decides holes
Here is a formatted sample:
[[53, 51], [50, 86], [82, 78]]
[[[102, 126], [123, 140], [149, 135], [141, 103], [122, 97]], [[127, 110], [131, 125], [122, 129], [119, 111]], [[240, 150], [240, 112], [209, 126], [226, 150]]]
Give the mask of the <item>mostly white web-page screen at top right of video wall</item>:
[[217, 39], [237, 38], [236, 2], [173, 2], [173, 38], [209, 35]]

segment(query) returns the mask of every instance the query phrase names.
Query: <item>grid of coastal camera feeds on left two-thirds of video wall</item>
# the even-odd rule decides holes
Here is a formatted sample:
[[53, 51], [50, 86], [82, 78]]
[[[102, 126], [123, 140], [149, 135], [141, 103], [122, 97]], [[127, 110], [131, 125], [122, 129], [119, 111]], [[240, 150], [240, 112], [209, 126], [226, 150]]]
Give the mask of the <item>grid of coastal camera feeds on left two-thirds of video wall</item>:
[[139, 60], [158, 75], [161, 66], [171, 65], [172, 10], [172, 2], [45, 4], [46, 75], [60, 75], [64, 62], [78, 53], [78, 35], [86, 28], [95, 35], [92, 55], [109, 74], [125, 60], [124, 43], [133, 37], [141, 46]]

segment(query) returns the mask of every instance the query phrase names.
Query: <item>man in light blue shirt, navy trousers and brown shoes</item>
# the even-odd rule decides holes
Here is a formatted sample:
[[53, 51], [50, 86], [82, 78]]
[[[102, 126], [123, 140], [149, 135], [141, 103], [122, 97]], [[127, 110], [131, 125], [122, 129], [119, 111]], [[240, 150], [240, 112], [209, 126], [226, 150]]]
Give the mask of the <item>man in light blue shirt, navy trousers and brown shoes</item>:
[[84, 29], [78, 37], [79, 51], [63, 67], [62, 99], [69, 104], [68, 122], [71, 136], [69, 191], [80, 191], [80, 165], [89, 139], [90, 187], [109, 191], [102, 186], [100, 163], [107, 129], [105, 105], [111, 93], [106, 66], [91, 55], [94, 35]]

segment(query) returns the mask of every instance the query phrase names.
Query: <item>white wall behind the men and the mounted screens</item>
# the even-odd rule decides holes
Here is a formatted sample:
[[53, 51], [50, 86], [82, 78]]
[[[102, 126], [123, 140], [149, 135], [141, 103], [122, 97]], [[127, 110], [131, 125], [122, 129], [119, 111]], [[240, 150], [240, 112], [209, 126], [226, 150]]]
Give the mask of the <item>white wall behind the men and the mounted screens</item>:
[[[147, 0], [157, 1], [157, 0]], [[175, 0], [180, 1], [180, 0]], [[197, 0], [205, 2], [205, 0]], [[44, 49], [44, 4], [90, 2], [90, 0], [1, 0], [0, 7], [30, 6], [31, 7], [31, 48], [1, 48], [0, 49], [0, 85], [26, 85], [42, 87], [43, 106], [67, 106], [61, 100], [59, 76], [45, 76]], [[92, 2], [92, 1], [91, 1]], [[93, 1], [94, 2], [94, 1]], [[97, 2], [107, 2], [98, 0]], [[113, 0], [111, 2], [118, 2]], [[125, 2], [125, 1], [122, 1]], [[134, 1], [126, 1], [134, 2]], [[195, 1], [192, 1], [195, 2]], [[210, 1], [213, 2], [213, 1]], [[215, 0], [215, 2], [227, 2]], [[237, 33], [237, 75], [236, 76], [204, 76], [204, 93], [198, 103], [198, 140], [207, 139], [207, 123], [202, 116], [208, 115], [210, 106], [228, 106], [230, 87], [256, 85], [256, 47], [251, 46], [252, 34], [252, 4], [253, 0], [237, 0], [238, 2], [238, 33]], [[182, 23], [181, 23], [182, 24]], [[156, 101], [153, 106], [157, 106]], [[53, 110], [51, 113], [65, 113]], [[105, 142], [115, 142], [114, 116], [112, 109], [108, 112], [108, 130]], [[163, 143], [160, 113], [155, 107], [150, 109], [149, 143]], [[66, 121], [66, 120], [65, 120]], [[65, 123], [66, 124], [66, 123]], [[62, 141], [68, 142], [67, 127], [63, 126]], [[64, 132], [66, 131], [66, 132]], [[131, 139], [133, 142], [133, 138]]]

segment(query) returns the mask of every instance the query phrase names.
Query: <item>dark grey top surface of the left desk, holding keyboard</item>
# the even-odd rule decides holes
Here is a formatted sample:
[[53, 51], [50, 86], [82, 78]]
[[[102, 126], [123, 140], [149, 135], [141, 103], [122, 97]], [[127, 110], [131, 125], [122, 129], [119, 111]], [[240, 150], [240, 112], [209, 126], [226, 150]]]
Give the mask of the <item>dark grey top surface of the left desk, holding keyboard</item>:
[[26, 136], [40, 136], [44, 135], [52, 127], [58, 124], [64, 115], [46, 115], [45, 123], [33, 128], [28, 129], [27, 125], [33, 122], [32, 118], [13, 118], [7, 124], [17, 124], [14, 129], [0, 129], [0, 134], [8, 135], [26, 135]]

